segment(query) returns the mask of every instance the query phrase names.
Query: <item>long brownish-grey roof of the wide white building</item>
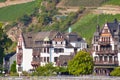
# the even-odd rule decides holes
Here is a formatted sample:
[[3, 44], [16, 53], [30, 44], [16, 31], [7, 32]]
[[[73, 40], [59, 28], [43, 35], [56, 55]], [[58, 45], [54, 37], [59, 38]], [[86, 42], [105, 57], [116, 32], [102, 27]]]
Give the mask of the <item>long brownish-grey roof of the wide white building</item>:
[[[33, 47], [44, 47], [42, 45], [38, 45], [35, 42], [37, 41], [44, 41], [44, 39], [47, 37], [49, 40], [53, 40], [57, 34], [60, 34], [63, 36], [63, 38], [66, 40], [66, 48], [73, 48], [73, 46], [70, 44], [70, 41], [81, 41], [85, 42], [81, 37], [79, 37], [76, 33], [67, 33], [63, 34], [61, 32], [57, 31], [47, 31], [47, 32], [38, 32], [38, 33], [23, 33], [23, 40], [24, 40], [24, 45], [26, 48], [33, 48]], [[76, 39], [67, 37], [68, 35], [76, 35]], [[48, 47], [52, 47], [51, 45]]]

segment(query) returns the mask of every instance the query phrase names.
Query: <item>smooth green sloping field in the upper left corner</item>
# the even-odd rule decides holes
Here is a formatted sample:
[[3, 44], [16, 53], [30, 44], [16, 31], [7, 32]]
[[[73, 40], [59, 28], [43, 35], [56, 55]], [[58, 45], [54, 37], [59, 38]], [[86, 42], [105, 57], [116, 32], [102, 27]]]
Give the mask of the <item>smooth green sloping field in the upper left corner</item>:
[[15, 21], [24, 14], [31, 14], [34, 8], [34, 1], [0, 8], [0, 21]]

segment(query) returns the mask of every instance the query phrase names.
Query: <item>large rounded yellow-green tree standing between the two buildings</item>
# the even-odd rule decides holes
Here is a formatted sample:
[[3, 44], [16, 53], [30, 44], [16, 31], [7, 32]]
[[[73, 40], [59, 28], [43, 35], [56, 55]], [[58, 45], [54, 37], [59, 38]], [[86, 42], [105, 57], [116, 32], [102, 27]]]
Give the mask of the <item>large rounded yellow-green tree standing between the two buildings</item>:
[[93, 71], [93, 59], [90, 53], [85, 51], [78, 52], [68, 63], [68, 71], [73, 75], [91, 74]]

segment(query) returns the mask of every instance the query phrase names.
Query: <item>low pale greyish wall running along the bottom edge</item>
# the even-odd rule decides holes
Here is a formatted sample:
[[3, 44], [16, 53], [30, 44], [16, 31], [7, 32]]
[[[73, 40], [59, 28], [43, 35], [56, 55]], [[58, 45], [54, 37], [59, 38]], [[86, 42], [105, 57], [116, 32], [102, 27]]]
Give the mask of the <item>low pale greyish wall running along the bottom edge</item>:
[[0, 80], [120, 80], [111, 76], [50, 76], [50, 77], [0, 77]]

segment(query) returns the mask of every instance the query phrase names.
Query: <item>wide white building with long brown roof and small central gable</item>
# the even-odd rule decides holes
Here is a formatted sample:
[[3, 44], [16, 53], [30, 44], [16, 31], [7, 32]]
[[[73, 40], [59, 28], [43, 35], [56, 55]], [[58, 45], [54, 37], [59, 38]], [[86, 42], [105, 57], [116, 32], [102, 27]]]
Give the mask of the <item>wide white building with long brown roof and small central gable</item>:
[[17, 72], [30, 71], [49, 62], [66, 66], [84, 48], [87, 48], [86, 41], [73, 32], [22, 33], [16, 50]]

